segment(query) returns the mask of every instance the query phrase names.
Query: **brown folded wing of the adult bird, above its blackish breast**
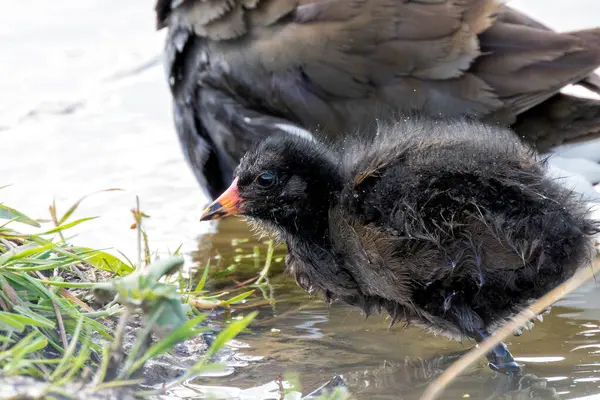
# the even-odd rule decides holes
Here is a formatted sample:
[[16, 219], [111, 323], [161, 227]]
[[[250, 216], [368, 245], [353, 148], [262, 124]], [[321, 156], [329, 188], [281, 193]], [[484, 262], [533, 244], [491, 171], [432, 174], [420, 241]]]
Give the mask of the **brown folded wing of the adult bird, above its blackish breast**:
[[600, 50], [590, 45], [598, 32], [559, 34], [496, 0], [172, 4], [159, 19], [215, 41], [215, 55], [243, 85], [271, 77], [257, 97], [276, 100], [273, 108], [309, 127], [335, 129], [377, 108], [434, 115], [509, 109], [512, 120], [600, 64]]

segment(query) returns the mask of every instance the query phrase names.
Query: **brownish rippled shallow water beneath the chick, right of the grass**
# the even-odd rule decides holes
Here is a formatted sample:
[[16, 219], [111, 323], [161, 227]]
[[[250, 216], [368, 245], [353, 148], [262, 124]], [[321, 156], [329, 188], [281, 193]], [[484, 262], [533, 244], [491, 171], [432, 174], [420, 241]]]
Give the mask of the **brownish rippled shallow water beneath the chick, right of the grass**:
[[[217, 234], [207, 235], [201, 241], [196, 253], [199, 260], [219, 254], [222, 264], [214, 271], [234, 265], [224, 278], [228, 283], [221, 282], [213, 289], [231, 287], [234, 282], [254, 276], [262, 267], [267, 247], [263, 242], [231, 244], [232, 240], [249, 235], [243, 222], [230, 219], [220, 223]], [[229, 261], [235, 255], [251, 253], [255, 246], [260, 257]], [[222, 358], [232, 366], [245, 356], [256, 357], [256, 361], [230, 368], [222, 377], [197, 378], [188, 382], [190, 391], [179, 388], [174, 393], [198, 398], [192, 394], [194, 388], [221, 393], [219, 398], [244, 398], [237, 390], [226, 389], [261, 386], [293, 372], [298, 374], [304, 394], [339, 375], [358, 399], [418, 399], [427, 384], [461, 351], [474, 345], [435, 337], [416, 327], [390, 329], [386, 318], [365, 319], [359, 311], [342, 304], [327, 307], [320, 298], [309, 296], [280, 274], [282, 254], [283, 250], [275, 252], [277, 261], [271, 270], [274, 278], [270, 285], [262, 291], [257, 289], [248, 303], [263, 305], [234, 311], [233, 315], [250, 309], [260, 313], [251, 325], [251, 333], [241, 334], [232, 345], [236, 352]], [[511, 337], [507, 344], [516, 360], [524, 364], [521, 377], [495, 373], [485, 360], [480, 360], [443, 398], [600, 398], [598, 304], [600, 288], [595, 283], [587, 285], [556, 304], [532, 331]], [[232, 354], [235, 356], [230, 358]], [[219, 392], [215, 392], [215, 387]]]

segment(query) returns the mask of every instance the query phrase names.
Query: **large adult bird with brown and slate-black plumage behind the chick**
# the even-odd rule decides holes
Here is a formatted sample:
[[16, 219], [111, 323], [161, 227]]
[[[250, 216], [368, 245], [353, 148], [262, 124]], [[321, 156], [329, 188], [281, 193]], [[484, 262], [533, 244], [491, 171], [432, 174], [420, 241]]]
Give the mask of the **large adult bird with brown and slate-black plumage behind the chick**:
[[600, 30], [557, 33], [497, 0], [157, 0], [177, 132], [214, 198], [264, 137], [372, 133], [376, 114], [470, 115], [538, 150], [600, 133]]

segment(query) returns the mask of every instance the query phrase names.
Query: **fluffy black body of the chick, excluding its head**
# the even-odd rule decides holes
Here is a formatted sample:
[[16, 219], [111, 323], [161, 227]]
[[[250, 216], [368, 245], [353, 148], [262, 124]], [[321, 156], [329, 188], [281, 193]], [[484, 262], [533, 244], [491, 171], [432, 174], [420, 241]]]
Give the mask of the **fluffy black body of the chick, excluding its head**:
[[[392, 136], [398, 129], [401, 140]], [[393, 271], [396, 298], [410, 298], [402, 308], [385, 306], [392, 317], [472, 338], [591, 259], [596, 227], [587, 207], [510, 135], [476, 123], [397, 125], [372, 147], [349, 150], [345, 216], [330, 221], [348, 224], [330, 235], [344, 259], [355, 259], [344, 237], [364, 232], [359, 240], [371, 251], [363, 261]], [[373, 303], [379, 307], [366, 299], [363, 308]]]

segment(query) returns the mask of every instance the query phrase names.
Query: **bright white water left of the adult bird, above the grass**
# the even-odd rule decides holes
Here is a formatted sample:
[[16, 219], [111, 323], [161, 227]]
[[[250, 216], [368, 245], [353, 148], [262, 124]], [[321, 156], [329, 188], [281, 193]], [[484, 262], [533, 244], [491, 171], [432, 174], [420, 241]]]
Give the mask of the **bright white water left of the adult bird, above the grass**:
[[[136, 249], [139, 195], [153, 249], [193, 248], [205, 204], [174, 131], [149, 0], [7, 2], [0, 15], [1, 201], [47, 218], [56, 198], [78, 244]], [[134, 257], [135, 258], [135, 257]]]

